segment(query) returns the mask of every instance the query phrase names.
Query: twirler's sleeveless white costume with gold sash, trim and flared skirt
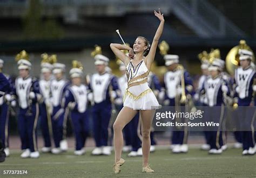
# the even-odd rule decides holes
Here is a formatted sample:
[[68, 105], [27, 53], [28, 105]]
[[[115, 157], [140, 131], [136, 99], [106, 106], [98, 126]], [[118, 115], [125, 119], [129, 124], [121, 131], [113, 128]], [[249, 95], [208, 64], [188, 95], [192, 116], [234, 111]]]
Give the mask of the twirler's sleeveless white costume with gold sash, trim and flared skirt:
[[140, 61], [137, 66], [132, 62], [126, 67], [128, 87], [125, 91], [124, 106], [133, 110], [152, 110], [159, 109], [156, 96], [147, 84], [149, 70], [144, 60]]

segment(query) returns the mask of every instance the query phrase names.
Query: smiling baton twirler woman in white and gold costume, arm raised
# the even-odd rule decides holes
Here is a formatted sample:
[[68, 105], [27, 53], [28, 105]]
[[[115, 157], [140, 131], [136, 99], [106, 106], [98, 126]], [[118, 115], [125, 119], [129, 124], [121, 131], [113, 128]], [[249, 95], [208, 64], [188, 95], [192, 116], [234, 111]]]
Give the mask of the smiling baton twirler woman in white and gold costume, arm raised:
[[[150, 131], [154, 113], [160, 105], [147, 84], [147, 76], [149, 75], [156, 54], [159, 38], [164, 29], [164, 16], [161, 14], [160, 9], [158, 12], [154, 11], [154, 15], [160, 20], [160, 24], [154, 35], [151, 47], [145, 37], [137, 37], [133, 44], [133, 49], [120, 44], [110, 44], [113, 53], [124, 62], [128, 76], [128, 87], [125, 91], [124, 107], [119, 112], [113, 125], [115, 154], [114, 173], [120, 173], [120, 166], [125, 162], [124, 159], [121, 158], [123, 147], [122, 130], [138, 111], [140, 111], [142, 117], [143, 172], [154, 172], [154, 170], [149, 167]], [[129, 56], [126, 56], [121, 50], [128, 50]], [[147, 52], [149, 52], [149, 54], [146, 55]]]

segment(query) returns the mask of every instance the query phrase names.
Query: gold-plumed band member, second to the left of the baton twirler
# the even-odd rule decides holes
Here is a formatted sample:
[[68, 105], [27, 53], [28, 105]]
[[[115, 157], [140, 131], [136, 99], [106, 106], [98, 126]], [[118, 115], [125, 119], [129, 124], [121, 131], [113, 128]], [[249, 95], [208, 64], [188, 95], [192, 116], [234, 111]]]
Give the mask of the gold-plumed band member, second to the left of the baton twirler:
[[89, 134], [89, 117], [87, 113], [87, 87], [82, 84], [83, 67], [78, 61], [72, 62], [70, 70], [71, 85], [65, 92], [65, 106], [71, 112], [73, 131], [76, 137], [75, 155], [85, 153], [84, 145]]

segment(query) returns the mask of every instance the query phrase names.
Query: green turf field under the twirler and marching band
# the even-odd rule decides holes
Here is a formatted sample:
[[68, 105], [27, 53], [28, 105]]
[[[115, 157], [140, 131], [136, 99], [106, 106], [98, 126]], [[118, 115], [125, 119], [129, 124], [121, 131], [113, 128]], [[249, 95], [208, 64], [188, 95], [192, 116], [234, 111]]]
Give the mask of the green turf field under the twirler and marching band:
[[[256, 177], [256, 155], [241, 156], [240, 149], [228, 149], [221, 155], [208, 155], [193, 148], [187, 154], [171, 154], [158, 149], [151, 154], [155, 173], [142, 173], [142, 158], [127, 158], [120, 174], [112, 172], [114, 156], [75, 156], [72, 151], [62, 155], [41, 154], [39, 159], [21, 159], [19, 152], [0, 163], [3, 170], [28, 170], [25, 177]], [[15, 177], [20, 175], [15, 175]], [[14, 175], [6, 175], [14, 177]]]

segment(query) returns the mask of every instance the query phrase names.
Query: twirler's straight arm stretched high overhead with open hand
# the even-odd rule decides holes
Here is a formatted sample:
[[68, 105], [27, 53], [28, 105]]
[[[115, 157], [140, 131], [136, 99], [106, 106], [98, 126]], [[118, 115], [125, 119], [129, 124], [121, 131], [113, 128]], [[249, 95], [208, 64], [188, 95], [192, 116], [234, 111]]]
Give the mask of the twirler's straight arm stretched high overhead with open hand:
[[146, 66], [148, 69], [151, 68], [152, 62], [154, 61], [154, 56], [156, 55], [157, 45], [159, 38], [161, 37], [161, 34], [163, 33], [164, 29], [164, 14], [161, 14], [160, 9], [157, 11], [154, 11], [154, 15], [157, 16], [157, 18], [160, 20], [160, 24], [158, 26], [157, 32], [154, 35], [154, 39], [152, 41], [152, 45], [149, 51], [149, 54], [146, 56]]

